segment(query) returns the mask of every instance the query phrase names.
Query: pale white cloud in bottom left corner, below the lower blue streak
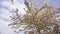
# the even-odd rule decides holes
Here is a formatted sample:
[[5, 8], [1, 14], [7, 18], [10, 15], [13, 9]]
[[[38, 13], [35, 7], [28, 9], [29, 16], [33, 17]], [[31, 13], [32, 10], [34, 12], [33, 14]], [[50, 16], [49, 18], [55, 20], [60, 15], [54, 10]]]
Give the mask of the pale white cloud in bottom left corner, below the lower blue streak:
[[0, 19], [0, 32], [2, 34], [17, 34], [14, 33], [7, 25], [9, 22]]

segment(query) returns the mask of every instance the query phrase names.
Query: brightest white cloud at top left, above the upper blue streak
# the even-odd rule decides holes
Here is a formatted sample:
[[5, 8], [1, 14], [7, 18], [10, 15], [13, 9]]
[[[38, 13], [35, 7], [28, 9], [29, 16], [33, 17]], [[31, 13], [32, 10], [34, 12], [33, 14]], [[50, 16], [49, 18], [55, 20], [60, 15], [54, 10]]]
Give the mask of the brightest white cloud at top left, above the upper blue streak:
[[10, 10], [11, 9], [15, 10], [16, 8], [18, 8], [19, 12], [21, 12], [22, 15], [25, 13], [25, 10], [23, 10], [23, 8], [25, 8], [26, 6], [22, 3], [19, 3], [17, 0], [14, 0], [14, 4], [12, 4], [11, 1], [10, 2], [4, 1], [2, 2], [2, 5], [9, 8]]

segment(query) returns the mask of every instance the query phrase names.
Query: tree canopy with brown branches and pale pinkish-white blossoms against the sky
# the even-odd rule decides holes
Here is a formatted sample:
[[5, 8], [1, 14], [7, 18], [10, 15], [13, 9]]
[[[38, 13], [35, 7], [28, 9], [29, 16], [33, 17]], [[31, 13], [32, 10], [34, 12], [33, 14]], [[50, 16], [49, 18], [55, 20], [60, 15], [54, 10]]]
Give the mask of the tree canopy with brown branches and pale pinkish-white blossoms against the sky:
[[[24, 31], [24, 34], [58, 34], [60, 33], [60, 20], [57, 20], [57, 15], [60, 13], [60, 8], [44, 4], [39, 7], [35, 2], [25, 0], [24, 8], [26, 14], [19, 15], [19, 9], [12, 11], [13, 15], [10, 16], [13, 23], [9, 24], [12, 28], [15, 28], [14, 32]], [[20, 29], [23, 27], [23, 29]]]

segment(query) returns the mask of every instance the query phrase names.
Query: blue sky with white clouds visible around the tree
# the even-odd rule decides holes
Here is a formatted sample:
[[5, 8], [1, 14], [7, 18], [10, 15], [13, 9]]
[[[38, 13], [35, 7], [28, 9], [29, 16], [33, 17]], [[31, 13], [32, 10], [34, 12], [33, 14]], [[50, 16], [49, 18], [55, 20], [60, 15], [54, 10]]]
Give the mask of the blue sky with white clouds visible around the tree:
[[[40, 6], [43, 5], [39, 2], [39, 0], [34, 1]], [[60, 7], [60, 0], [47, 0], [45, 3], [48, 3], [50, 6], [54, 6], [56, 8]], [[22, 15], [25, 13], [23, 10], [23, 8], [25, 8], [23, 0], [14, 0], [14, 5], [12, 5], [11, 0], [0, 0], [0, 32], [2, 34], [23, 34], [23, 32], [15, 33], [10, 27], [8, 27], [8, 24], [11, 23], [9, 17], [11, 15], [10, 11], [11, 9], [15, 10], [16, 8], [19, 9], [19, 13]]]

